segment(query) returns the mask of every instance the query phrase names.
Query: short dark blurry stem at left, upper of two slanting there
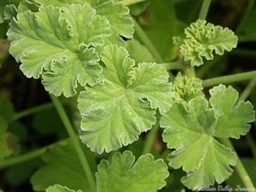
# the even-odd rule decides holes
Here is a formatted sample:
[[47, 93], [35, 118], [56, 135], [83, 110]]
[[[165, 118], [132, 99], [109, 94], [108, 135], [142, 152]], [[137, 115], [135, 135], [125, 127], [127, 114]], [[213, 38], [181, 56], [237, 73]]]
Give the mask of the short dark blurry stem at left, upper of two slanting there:
[[22, 112], [18, 112], [17, 114], [15, 114], [12, 121], [17, 121], [18, 119], [21, 119], [21, 118], [26, 117], [31, 114], [35, 114], [42, 110], [47, 110], [52, 107], [54, 107], [54, 105], [52, 103], [46, 103], [46, 104], [43, 104], [43, 105], [40, 105], [37, 107], [29, 108], [27, 110], [24, 110]]

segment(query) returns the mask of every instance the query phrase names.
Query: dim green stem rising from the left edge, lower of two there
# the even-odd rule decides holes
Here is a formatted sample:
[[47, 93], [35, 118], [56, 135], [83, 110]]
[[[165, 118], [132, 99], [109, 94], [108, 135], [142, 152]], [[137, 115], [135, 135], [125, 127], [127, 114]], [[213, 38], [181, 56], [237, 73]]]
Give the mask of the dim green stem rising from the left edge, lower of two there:
[[8, 166], [17, 165], [17, 164], [29, 161], [31, 159], [39, 158], [40, 156], [42, 156], [42, 154], [47, 152], [48, 149], [50, 149], [53, 145], [66, 144], [68, 142], [68, 140], [69, 140], [69, 138], [65, 139], [65, 140], [61, 140], [60, 142], [56, 142], [54, 144], [47, 145], [47, 146], [37, 149], [35, 151], [28, 152], [27, 154], [22, 154], [21, 156], [17, 156], [14, 158], [8, 158], [8, 159], [5, 159], [4, 161], [0, 161], [0, 170], [3, 168], [6, 168]]

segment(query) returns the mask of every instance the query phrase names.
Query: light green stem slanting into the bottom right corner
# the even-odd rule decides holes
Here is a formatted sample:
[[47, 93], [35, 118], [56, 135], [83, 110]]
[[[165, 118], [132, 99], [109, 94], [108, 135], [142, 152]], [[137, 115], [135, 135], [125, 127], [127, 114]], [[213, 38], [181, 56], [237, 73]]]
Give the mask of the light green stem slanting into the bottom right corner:
[[[232, 143], [227, 138], [222, 138], [221, 142], [224, 145], [226, 145], [227, 147], [229, 147], [230, 149], [233, 149], [233, 151], [235, 151]], [[239, 176], [241, 177], [241, 179], [242, 179], [242, 181], [244, 183], [244, 186], [249, 190], [248, 192], [255, 191], [255, 187], [253, 186], [252, 180], [250, 179], [250, 176], [246, 172], [246, 169], [244, 168], [244, 165], [241, 162], [241, 160], [239, 159], [238, 155], [237, 155], [236, 170], [237, 170]]]

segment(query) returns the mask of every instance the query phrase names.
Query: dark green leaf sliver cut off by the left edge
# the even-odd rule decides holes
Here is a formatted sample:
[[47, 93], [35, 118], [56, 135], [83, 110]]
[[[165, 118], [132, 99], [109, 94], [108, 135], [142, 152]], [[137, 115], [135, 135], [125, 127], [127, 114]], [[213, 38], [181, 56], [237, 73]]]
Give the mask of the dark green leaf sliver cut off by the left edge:
[[12, 150], [10, 146], [8, 146], [7, 128], [8, 124], [6, 120], [0, 116], [0, 160], [12, 154]]

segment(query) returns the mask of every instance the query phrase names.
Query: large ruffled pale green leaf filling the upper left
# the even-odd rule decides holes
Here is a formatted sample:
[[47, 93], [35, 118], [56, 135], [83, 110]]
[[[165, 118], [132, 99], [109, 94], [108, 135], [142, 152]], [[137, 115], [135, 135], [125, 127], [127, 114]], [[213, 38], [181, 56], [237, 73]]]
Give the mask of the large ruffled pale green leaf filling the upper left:
[[77, 83], [85, 86], [100, 81], [102, 68], [93, 47], [102, 45], [110, 33], [108, 20], [93, 8], [72, 4], [19, 13], [10, 24], [8, 39], [12, 41], [10, 53], [22, 63], [20, 70], [26, 77], [43, 74], [47, 91], [69, 97], [76, 94]]

